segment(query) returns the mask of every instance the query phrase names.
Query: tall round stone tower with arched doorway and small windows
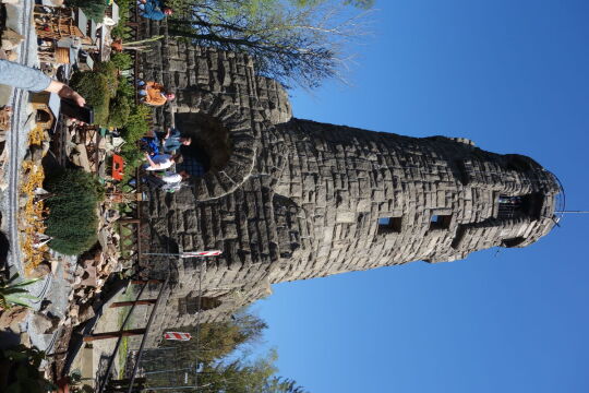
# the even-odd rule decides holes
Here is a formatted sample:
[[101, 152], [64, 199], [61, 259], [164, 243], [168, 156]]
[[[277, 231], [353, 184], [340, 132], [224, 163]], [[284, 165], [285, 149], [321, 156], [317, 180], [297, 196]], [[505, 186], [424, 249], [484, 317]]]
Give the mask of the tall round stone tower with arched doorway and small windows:
[[152, 238], [224, 251], [180, 262], [161, 329], [194, 324], [197, 301], [201, 321], [218, 320], [271, 284], [525, 247], [553, 226], [560, 188], [531, 158], [296, 119], [248, 57], [171, 40], [159, 50], [144, 56], [145, 78], [173, 86], [177, 102], [157, 121], [173, 111], [193, 138], [187, 168], [200, 155], [208, 171], [154, 192]]

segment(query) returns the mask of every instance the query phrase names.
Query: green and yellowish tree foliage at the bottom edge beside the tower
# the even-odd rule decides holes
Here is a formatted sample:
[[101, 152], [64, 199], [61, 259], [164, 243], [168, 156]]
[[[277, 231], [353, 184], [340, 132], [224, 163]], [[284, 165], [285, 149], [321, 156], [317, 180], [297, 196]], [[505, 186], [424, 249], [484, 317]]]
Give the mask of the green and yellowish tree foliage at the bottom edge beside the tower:
[[[199, 384], [209, 392], [231, 393], [305, 393], [290, 379], [276, 376], [276, 350], [271, 349], [257, 359], [248, 357], [250, 347], [260, 342], [266, 323], [259, 317], [242, 311], [225, 322], [204, 323], [199, 326], [175, 327], [193, 335], [190, 342], [166, 342], [164, 348], [144, 354], [145, 371], [158, 371], [163, 365], [199, 364]], [[172, 383], [175, 376], [152, 373], [152, 388]]]

